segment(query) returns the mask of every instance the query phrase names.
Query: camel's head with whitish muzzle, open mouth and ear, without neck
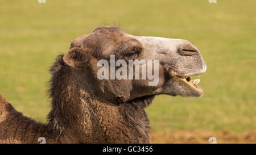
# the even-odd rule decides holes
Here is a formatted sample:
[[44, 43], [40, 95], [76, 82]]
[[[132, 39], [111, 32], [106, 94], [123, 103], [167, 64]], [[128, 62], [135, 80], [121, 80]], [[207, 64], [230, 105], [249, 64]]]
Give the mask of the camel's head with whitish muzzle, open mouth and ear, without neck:
[[98, 27], [73, 40], [63, 60], [81, 89], [90, 85], [84, 89], [109, 102], [158, 94], [203, 95], [197, 85], [200, 79], [189, 76], [205, 73], [207, 66], [187, 40], [133, 36], [118, 27]]

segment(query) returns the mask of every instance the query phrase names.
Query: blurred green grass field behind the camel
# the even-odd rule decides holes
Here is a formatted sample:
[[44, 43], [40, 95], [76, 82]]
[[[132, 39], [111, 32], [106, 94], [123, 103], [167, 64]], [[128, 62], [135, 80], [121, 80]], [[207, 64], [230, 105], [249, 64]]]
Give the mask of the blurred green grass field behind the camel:
[[75, 37], [115, 25], [133, 35], [191, 41], [208, 70], [202, 98], [160, 95], [147, 108], [152, 131], [256, 130], [256, 1], [1, 1], [0, 92], [46, 122], [48, 68]]

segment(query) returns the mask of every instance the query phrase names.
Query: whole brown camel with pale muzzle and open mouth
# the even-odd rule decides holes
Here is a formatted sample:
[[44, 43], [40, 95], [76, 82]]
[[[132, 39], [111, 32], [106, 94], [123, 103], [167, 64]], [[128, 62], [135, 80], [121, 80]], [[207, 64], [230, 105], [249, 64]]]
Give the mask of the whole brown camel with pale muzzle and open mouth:
[[[110, 61], [111, 55], [126, 62], [158, 60], [158, 83], [150, 86], [148, 78], [99, 79], [98, 61]], [[189, 76], [206, 69], [200, 52], [187, 40], [97, 27], [73, 40], [49, 69], [52, 109], [47, 123], [23, 116], [0, 94], [0, 143], [39, 143], [39, 137], [46, 143], [150, 143], [144, 109], [155, 95], [201, 97], [199, 79]]]

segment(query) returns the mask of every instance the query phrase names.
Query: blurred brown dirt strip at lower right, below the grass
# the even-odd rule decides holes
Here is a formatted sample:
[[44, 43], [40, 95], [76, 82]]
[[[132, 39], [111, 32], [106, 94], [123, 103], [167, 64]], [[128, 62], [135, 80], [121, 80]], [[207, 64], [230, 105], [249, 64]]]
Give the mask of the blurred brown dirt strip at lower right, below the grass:
[[179, 130], [150, 133], [151, 143], [211, 143], [209, 137], [216, 137], [217, 143], [256, 143], [253, 131], [234, 133], [228, 131]]

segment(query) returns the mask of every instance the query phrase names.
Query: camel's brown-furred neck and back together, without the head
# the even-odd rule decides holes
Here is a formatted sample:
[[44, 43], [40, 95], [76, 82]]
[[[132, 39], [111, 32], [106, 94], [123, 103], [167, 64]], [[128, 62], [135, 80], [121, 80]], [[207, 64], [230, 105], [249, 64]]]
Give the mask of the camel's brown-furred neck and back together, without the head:
[[149, 143], [143, 108], [153, 97], [119, 105], [101, 101], [91, 91], [85, 91], [93, 83], [83, 90], [76, 86], [80, 83], [69, 74], [63, 55], [57, 58], [51, 72], [52, 110], [48, 124], [23, 116], [1, 95], [0, 143], [38, 143], [39, 137], [46, 137], [46, 143]]

